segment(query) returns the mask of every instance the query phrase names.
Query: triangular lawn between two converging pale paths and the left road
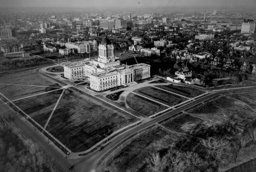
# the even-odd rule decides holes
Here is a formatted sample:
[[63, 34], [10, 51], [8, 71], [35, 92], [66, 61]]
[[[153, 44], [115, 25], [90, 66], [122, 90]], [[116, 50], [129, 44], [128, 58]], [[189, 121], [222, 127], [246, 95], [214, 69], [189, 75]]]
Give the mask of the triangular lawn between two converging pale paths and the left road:
[[60, 94], [50, 92], [15, 101], [14, 104], [44, 127], [59, 96]]

